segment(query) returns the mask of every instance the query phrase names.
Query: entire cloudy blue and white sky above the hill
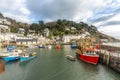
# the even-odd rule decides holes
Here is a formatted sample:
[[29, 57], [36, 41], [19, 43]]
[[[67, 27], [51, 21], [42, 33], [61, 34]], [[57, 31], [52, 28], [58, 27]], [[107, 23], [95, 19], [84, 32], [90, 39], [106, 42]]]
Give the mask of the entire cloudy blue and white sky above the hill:
[[120, 39], [120, 0], [0, 0], [0, 12], [26, 23], [83, 21]]

